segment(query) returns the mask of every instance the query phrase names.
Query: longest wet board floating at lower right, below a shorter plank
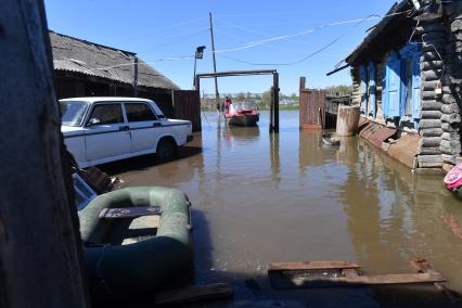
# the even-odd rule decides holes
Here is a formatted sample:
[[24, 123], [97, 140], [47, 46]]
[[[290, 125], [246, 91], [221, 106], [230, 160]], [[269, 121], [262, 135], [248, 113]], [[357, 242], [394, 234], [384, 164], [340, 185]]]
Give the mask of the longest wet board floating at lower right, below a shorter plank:
[[398, 273], [381, 275], [357, 275], [348, 272], [345, 277], [337, 278], [294, 278], [282, 279], [271, 283], [275, 288], [304, 288], [304, 287], [331, 287], [331, 286], [357, 286], [357, 285], [390, 285], [390, 284], [416, 284], [445, 282], [446, 279], [438, 272], [425, 273]]

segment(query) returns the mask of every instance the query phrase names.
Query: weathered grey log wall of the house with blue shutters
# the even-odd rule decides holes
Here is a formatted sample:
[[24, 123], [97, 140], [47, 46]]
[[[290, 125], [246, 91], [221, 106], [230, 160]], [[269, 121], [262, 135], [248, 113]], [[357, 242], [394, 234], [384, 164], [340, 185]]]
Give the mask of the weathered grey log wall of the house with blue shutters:
[[[438, 16], [421, 15], [413, 40], [421, 43], [421, 120], [419, 133], [423, 137], [418, 151], [420, 168], [440, 168], [457, 163], [461, 156], [462, 129], [462, 1], [446, 1]], [[414, 17], [419, 18], [419, 17]], [[406, 28], [410, 25], [406, 25]], [[412, 28], [412, 30], [414, 30]], [[399, 50], [399, 38], [384, 34], [395, 44], [376, 47], [363, 55], [362, 63], [374, 57], [376, 63], [375, 123], [385, 123], [382, 107], [382, 76], [390, 49]], [[407, 40], [408, 41], [408, 40]], [[406, 41], [406, 42], [407, 42]], [[357, 67], [351, 68], [352, 104], [360, 104], [361, 89]], [[409, 130], [408, 130], [409, 131]]]

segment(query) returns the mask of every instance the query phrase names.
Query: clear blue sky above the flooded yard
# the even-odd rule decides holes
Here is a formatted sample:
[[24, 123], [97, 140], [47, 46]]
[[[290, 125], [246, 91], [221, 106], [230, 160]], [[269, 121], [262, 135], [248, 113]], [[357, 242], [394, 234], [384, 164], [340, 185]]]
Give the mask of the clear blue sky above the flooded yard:
[[[392, 0], [285, 0], [285, 1], [153, 1], [153, 0], [46, 0], [49, 28], [69, 36], [138, 53], [182, 89], [192, 88], [193, 59], [197, 46], [206, 54], [197, 61], [197, 73], [213, 72], [208, 13], [214, 18], [217, 70], [267, 69], [280, 73], [281, 92], [298, 91], [298, 79], [307, 87], [349, 85], [349, 70], [325, 76], [362, 40], [378, 20], [322, 25], [383, 15]], [[285, 39], [281, 36], [312, 33]], [[319, 54], [309, 54], [338, 40]], [[267, 39], [270, 39], [269, 41]], [[267, 40], [267, 41], [265, 41]], [[249, 47], [249, 46], [253, 47]], [[175, 61], [166, 61], [171, 60]], [[270, 65], [251, 65], [254, 64]], [[295, 63], [296, 62], [296, 63]], [[291, 65], [274, 65], [274, 64]], [[218, 80], [221, 93], [264, 92], [270, 76], [227, 77]], [[201, 82], [214, 92], [211, 79]]]

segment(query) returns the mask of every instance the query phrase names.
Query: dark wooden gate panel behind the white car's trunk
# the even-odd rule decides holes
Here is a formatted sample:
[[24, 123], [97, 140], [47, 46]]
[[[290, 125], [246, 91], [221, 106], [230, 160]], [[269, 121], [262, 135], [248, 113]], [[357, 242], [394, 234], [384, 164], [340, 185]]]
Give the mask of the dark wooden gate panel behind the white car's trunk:
[[201, 98], [194, 90], [174, 90], [174, 118], [188, 119], [193, 131], [201, 131]]

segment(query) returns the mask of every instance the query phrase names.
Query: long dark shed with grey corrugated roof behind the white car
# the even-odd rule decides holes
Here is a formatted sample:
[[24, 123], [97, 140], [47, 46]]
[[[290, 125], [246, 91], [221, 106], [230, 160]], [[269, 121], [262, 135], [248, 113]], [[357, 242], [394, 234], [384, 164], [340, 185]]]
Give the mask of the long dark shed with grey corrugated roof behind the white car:
[[139, 97], [156, 102], [168, 117], [191, 120], [201, 130], [196, 91], [180, 90], [136, 53], [50, 31], [59, 99]]

